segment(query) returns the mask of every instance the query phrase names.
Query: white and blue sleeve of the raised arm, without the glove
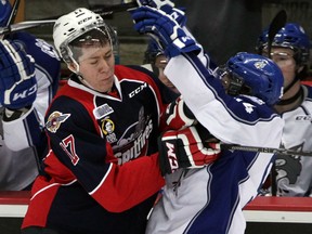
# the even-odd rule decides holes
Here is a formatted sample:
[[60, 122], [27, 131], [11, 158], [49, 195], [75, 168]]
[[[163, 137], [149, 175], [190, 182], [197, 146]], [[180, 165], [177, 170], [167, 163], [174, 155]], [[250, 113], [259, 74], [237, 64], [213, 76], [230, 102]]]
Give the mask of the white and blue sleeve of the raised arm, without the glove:
[[276, 146], [266, 139], [281, 139], [281, 117], [256, 98], [227, 95], [221, 81], [197, 56], [182, 54], [171, 58], [165, 74], [196, 119], [222, 142]]

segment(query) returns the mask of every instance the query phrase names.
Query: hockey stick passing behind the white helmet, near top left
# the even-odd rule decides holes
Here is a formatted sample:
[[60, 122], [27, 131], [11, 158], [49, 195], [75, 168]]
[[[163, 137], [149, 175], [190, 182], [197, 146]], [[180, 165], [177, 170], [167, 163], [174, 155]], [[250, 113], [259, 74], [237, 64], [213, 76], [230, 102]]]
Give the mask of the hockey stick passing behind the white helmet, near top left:
[[[105, 6], [105, 8], [102, 6], [99, 9], [93, 9], [92, 11], [100, 14], [101, 16], [104, 16], [104, 15], [112, 15], [117, 12], [127, 11], [129, 9], [136, 8], [136, 6], [138, 6], [138, 3], [135, 1], [135, 2], [129, 2], [129, 3], [115, 4], [115, 5]], [[55, 18], [57, 18], [57, 16], [55, 16]], [[5, 35], [5, 34], [13, 32], [13, 31], [24, 30], [24, 29], [39, 27], [39, 26], [51, 26], [55, 23], [56, 21], [55, 18], [26, 21], [26, 22], [21, 22], [17, 24], [12, 24], [11, 26], [0, 27], [0, 35]]]

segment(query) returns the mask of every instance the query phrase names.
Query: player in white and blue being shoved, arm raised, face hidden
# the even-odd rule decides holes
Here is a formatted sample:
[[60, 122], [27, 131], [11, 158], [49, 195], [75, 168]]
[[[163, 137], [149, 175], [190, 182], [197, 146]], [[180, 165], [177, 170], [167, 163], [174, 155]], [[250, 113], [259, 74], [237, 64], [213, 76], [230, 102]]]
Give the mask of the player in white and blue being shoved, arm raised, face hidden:
[[[157, 1], [147, 2], [155, 6], [151, 2]], [[271, 108], [283, 93], [283, 75], [276, 64], [261, 55], [238, 53], [213, 73], [202, 63], [202, 48], [173, 17], [148, 6], [131, 14], [139, 32], [156, 36], [165, 47], [170, 58], [165, 74], [211, 135], [223, 144], [280, 146], [284, 121]], [[159, 151], [166, 154], [167, 140], [161, 140]], [[205, 168], [166, 176], [162, 198], [146, 233], [244, 233], [242, 210], [258, 195], [273, 158], [269, 153], [223, 150]]]

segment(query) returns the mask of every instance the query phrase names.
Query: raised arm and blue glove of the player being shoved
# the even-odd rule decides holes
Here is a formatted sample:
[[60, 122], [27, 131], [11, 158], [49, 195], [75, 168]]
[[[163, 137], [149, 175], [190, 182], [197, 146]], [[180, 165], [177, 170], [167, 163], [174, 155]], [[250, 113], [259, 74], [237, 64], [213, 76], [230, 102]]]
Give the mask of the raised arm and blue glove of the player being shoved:
[[[223, 142], [243, 145], [261, 145], [262, 142], [258, 142], [260, 130], [263, 131], [263, 141], [265, 135], [280, 134], [273, 127], [281, 126], [281, 119], [266, 107], [259, 107], [257, 102], [235, 99], [225, 93], [212, 70], [207, 69], [197, 57], [200, 48], [196, 41], [172, 17], [148, 6], [141, 6], [131, 14], [138, 31], [153, 34], [166, 46], [165, 52], [171, 58], [165, 74], [181, 92], [196, 119], [209, 132]], [[244, 134], [237, 138], [233, 132]]]

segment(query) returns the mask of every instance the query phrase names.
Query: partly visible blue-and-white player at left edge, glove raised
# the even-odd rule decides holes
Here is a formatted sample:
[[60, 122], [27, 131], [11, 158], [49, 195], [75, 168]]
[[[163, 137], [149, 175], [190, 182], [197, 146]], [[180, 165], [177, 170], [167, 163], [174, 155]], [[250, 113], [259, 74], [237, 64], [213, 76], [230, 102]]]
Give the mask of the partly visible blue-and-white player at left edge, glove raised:
[[[0, 2], [1, 27], [11, 11], [9, 1]], [[22, 31], [0, 40], [0, 191], [28, 190], [38, 176], [43, 116], [60, 70], [60, 58], [46, 41]]]

